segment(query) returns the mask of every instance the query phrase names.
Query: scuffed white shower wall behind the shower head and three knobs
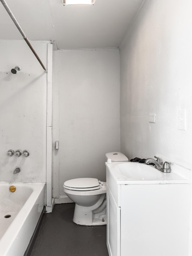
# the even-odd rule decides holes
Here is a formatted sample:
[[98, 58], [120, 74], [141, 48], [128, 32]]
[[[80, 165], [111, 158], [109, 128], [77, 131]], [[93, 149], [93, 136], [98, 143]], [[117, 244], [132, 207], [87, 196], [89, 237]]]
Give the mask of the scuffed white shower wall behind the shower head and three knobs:
[[[48, 41], [31, 43], [46, 66]], [[47, 74], [23, 40], [0, 41], [0, 56], [0, 181], [46, 182]], [[8, 157], [8, 149], [30, 156]]]

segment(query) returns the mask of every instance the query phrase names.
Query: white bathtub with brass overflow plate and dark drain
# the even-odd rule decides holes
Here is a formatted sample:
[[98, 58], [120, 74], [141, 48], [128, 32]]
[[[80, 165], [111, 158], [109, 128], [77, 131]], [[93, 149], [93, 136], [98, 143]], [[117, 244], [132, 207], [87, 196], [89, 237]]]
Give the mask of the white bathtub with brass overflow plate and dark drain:
[[[11, 185], [16, 187], [15, 192], [9, 191]], [[1, 256], [25, 253], [43, 210], [44, 196], [44, 183], [0, 182]]]

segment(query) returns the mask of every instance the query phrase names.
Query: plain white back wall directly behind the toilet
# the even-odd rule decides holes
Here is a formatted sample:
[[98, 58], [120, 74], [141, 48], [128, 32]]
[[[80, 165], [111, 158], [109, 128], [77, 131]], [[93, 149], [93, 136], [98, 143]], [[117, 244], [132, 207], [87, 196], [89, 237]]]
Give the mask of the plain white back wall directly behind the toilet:
[[105, 153], [120, 150], [119, 50], [61, 50], [59, 192], [68, 179], [106, 180]]

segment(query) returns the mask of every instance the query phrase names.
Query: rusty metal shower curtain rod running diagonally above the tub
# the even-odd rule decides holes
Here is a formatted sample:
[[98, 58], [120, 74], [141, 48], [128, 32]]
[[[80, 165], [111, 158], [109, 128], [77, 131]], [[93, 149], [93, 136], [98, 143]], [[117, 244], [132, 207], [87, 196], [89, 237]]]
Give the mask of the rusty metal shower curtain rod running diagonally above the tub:
[[35, 52], [34, 48], [32, 47], [31, 43], [29, 42], [27, 36], [23, 32], [22, 28], [20, 27], [19, 23], [17, 22], [16, 18], [14, 17], [13, 13], [11, 12], [9, 6], [7, 5], [7, 3], [4, 0], [0, 0], [0, 1], [1, 1], [2, 5], [4, 6], [5, 10], [7, 11], [7, 13], [9, 14], [9, 16], [11, 17], [11, 19], [13, 20], [13, 22], [15, 23], [15, 25], [16, 25], [17, 29], [19, 30], [19, 32], [21, 33], [23, 39], [26, 41], [29, 48], [32, 50], [33, 54], [35, 55], [35, 57], [38, 59], [38, 62], [41, 64], [44, 71], [47, 72], [45, 66], [43, 65], [43, 62], [41, 61], [41, 59], [39, 58], [39, 56]]

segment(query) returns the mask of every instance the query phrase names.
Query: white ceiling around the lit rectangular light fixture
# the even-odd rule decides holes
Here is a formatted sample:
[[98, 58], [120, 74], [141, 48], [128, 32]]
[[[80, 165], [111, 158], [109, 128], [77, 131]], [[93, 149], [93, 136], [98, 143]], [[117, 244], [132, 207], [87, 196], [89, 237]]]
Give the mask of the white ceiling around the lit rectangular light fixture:
[[[58, 49], [119, 47], [143, 0], [6, 0], [29, 40], [55, 40]], [[22, 39], [0, 2], [0, 39]]]

